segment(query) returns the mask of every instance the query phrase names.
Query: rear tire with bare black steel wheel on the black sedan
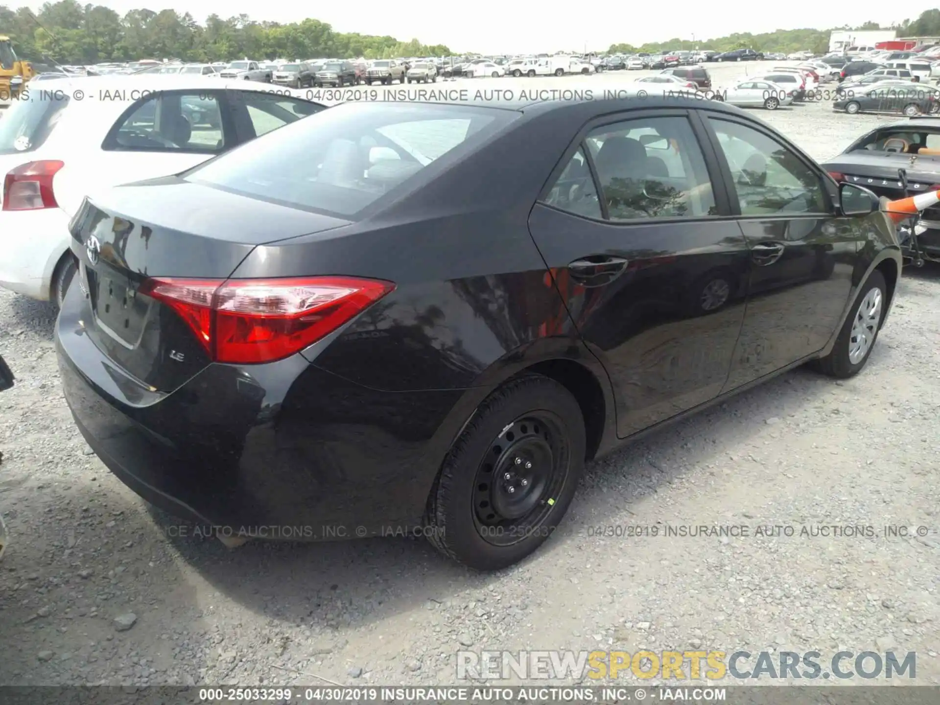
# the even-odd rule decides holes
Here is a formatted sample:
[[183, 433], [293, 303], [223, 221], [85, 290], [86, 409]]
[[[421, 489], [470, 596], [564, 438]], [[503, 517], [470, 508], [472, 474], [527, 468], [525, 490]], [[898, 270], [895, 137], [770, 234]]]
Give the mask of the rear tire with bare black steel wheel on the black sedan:
[[[585, 443], [584, 416], [564, 386], [535, 374], [510, 380], [479, 405], [447, 453], [428, 497], [425, 522], [431, 544], [445, 556], [479, 571], [499, 570], [522, 560], [564, 517], [584, 467]], [[551, 446], [551, 454], [540, 455], [537, 451], [542, 446]], [[524, 524], [510, 530], [507, 522], [511, 520], [493, 524], [499, 509], [486, 498], [491, 497], [493, 503], [511, 501], [512, 495], [504, 489], [509, 480], [503, 476], [505, 470], [523, 466], [512, 462], [520, 457], [530, 458], [537, 467], [540, 458], [553, 462], [547, 462], [552, 468], [547, 478], [534, 476], [529, 490], [519, 490], [516, 501], [534, 505], [516, 519]], [[489, 458], [495, 460], [487, 462]], [[499, 488], [493, 483], [491, 489], [481, 481], [497, 473], [501, 476]], [[518, 485], [524, 480], [511, 481]], [[525, 521], [532, 524], [526, 526]]]

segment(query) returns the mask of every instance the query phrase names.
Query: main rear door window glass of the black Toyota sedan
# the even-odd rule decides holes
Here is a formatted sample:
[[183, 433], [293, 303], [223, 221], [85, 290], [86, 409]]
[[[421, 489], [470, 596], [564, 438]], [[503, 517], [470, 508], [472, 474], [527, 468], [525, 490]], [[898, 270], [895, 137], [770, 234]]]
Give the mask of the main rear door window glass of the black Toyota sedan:
[[585, 140], [611, 220], [716, 214], [712, 182], [686, 118], [637, 118]]

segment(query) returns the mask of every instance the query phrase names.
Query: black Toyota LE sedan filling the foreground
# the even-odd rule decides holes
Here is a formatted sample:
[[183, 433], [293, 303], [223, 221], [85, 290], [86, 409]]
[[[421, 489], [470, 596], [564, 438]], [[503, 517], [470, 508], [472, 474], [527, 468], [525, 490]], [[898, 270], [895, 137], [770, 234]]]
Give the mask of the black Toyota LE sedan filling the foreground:
[[86, 199], [65, 397], [171, 512], [495, 569], [641, 431], [862, 369], [901, 272], [877, 209], [717, 102], [345, 103]]

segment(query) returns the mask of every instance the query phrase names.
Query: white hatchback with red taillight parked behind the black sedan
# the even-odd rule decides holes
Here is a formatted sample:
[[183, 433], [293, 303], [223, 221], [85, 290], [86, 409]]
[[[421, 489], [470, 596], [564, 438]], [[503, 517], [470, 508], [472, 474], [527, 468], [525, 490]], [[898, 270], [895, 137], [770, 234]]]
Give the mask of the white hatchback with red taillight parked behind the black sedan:
[[0, 118], [0, 286], [59, 303], [75, 273], [69, 221], [90, 190], [178, 174], [322, 109], [201, 75], [44, 81]]

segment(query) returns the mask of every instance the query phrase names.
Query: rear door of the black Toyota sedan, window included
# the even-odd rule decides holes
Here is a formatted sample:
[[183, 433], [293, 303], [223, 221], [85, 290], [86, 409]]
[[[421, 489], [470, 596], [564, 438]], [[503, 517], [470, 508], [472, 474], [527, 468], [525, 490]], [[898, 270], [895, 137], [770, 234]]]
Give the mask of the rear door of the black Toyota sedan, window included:
[[700, 131], [679, 109], [590, 123], [530, 215], [621, 437], [713, 399], [744, 320], [749, 255]]

